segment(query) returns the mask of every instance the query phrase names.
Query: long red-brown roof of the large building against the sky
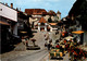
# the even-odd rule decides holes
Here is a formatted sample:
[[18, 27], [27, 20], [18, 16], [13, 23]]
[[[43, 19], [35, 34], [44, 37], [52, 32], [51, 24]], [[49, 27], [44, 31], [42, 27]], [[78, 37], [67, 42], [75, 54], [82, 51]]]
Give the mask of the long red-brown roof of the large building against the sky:
[[25, 9], [25, 13], [27, 13], [28, 15], [47, 14], [47, 11], [45, 9]]

